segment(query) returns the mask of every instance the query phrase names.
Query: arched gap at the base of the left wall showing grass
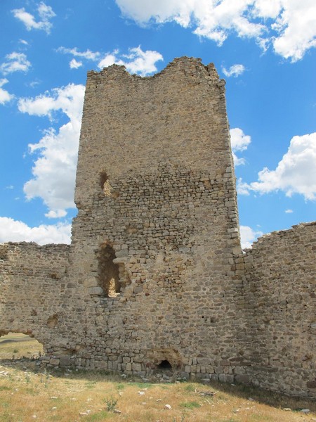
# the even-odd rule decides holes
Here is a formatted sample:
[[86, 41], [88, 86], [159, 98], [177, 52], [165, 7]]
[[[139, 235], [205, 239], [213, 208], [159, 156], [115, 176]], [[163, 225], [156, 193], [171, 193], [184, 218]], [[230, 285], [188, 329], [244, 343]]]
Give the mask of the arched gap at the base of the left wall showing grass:
[[0, 362], [8, 359], [38, 359], [42, 354], [43, 345], [27, 334], [8, 333], [0, 337]]

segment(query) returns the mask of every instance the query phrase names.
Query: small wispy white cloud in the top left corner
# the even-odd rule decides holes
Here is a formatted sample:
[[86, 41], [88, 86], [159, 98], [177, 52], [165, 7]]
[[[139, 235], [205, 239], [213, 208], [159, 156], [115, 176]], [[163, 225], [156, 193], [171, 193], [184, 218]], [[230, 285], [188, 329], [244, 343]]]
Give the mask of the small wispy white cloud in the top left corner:
[[53, 27], [51, 18], [55, 16], [55, 13], [51, 6], [47, 6], [43, 1], [37, 5], [37, 14], [39, 20], [36, 20], [34, 15], [25, 11], [25, 8], [13, 9], [12, 11], [15, 18], [24, 23], [26, 29], [30, 30], [44, 30], [46, 34], [51, 32]]

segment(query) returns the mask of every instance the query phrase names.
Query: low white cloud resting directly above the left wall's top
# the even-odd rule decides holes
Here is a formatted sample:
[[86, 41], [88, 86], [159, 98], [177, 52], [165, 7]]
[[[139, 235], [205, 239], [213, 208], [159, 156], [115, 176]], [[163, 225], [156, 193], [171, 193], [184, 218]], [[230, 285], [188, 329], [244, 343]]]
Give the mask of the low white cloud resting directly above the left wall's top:
[[9, 217], [0, 217], [0, 243], [4, 242], [36, 242], [39, 245], [48, 243], [70, 243], [71, 224], [41, 224], [29, 227], [27, 224]]

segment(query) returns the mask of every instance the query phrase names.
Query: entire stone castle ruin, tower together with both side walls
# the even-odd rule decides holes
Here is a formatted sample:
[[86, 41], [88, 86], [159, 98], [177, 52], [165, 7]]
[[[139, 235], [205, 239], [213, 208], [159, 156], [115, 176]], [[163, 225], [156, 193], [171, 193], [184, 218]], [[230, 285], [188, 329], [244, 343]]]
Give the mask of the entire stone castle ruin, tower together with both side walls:
[[88, 72], [71, 245], [0, 245], [0, 335], [46, 366], [316, 397], [316, 224], [243, 252], [212, 64]]

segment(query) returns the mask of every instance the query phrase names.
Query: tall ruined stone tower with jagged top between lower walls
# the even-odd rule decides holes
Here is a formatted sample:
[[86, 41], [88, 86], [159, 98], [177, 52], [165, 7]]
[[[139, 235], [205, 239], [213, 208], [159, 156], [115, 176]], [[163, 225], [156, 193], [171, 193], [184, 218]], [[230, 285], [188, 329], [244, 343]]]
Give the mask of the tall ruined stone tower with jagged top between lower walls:
[[168, 360], [233, 381], [245, 309], [213, 66], [181, 58], [148, 78], [116, 65], [90, 72], [75, 200], [70, 279], [90, 316], [76, 362], [145, 373]]

